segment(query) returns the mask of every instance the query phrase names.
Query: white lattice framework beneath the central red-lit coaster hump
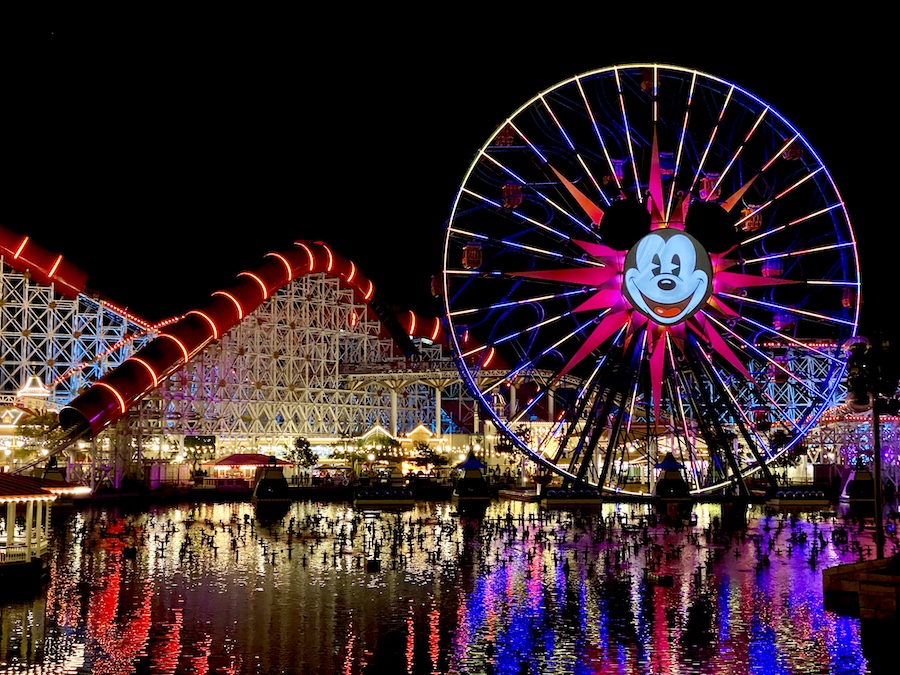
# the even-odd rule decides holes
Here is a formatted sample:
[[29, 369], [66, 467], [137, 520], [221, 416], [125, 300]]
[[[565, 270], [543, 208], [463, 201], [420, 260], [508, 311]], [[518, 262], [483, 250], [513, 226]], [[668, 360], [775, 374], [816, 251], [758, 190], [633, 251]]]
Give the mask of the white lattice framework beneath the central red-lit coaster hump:
[[404, 361], [352, 290], [335, 277], [310, 274], [173, 374], [146, 400], [140, 419], [149, 433], [216, 436], [248, 448], [289, 445], [297, 436], [340, 439], [375, 425], [392, 429], [393, 391], [393, 431], [433, 427], [434, 396], [423, 383], [392, 390], [384, 381], [345, 375]]

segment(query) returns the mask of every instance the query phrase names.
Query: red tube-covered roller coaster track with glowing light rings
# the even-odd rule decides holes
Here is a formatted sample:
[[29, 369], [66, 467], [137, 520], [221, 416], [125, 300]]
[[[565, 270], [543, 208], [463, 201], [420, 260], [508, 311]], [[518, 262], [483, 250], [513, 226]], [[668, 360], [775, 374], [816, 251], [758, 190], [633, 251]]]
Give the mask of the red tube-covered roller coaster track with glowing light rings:
[[[52, 284], [66, 297], [85, 292], [84, 273], [27, 237], [0, 228], [0, 255], [14, 269], [26, 272], [32, 280]], [[205, 306], [156, 326], [144, 322], [148, 330], [156, 332], [155, 337], [65, 404], [59, 411], [58, 426], [50, 431], [47, 454], [17, 466], [15, 473], [31, 471], [74, 443], [96, 438], [279, 289], [316, 273], [337, 278], [342, 287], [352, 289], [354, 297], [377, 317], [386, 337], [392, 338], [407, 358], [418, 355], [416, 337], [433, 343], [443, 341], [439, 319], [423, 319], [412, 312], [393, 314], [353, 262], [323, 242], [297, 241], [295, 248], [269, 253], [259, 267], [239, 273], [229, 288], [214, 292]]]

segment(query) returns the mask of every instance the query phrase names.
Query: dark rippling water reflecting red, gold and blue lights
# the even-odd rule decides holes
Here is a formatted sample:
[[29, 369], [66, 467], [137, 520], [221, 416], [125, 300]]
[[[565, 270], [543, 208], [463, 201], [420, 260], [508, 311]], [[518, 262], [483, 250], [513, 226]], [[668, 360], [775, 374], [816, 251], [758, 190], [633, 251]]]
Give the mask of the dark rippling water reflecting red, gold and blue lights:
[[55, 514], [46, 589], [0, 601], [0, 673], [843, 674], [893, 659], [893, 621], [822, 597], [824, 568], [875, 557], [871, 523], [692, 509], [673, 525], [614, 503], [96, 502]]

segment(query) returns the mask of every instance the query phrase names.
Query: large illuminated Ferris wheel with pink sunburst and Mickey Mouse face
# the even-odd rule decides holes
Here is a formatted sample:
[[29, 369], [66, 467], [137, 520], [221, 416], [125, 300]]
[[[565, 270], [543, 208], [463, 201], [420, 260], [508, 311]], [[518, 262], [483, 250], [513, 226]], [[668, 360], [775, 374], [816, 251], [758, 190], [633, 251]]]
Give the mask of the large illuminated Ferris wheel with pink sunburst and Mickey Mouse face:
[[478, 151], [441, 292], [460, 374], [519, 451], [626, 494], [671, 452], [702, 494], [769, 477], [832, 405], [858, 272], [790, 122], [711, 75], [627, 65], [540, 92]]

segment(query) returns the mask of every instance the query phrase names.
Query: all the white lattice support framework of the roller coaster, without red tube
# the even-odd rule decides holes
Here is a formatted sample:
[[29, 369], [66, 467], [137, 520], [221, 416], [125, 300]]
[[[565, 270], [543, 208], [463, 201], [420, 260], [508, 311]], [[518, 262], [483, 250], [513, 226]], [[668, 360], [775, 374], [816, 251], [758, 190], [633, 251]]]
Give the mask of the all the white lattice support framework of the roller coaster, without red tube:
[[[48, 407], [58, 409], [155, 337], [153, 326], [114, 304], [84, 293], [63, 297], [0, 258], [0, 405], [21, 406], [16, 392], [35, 374], [49, 387]], [[803, 359], [791, 364], [810, 378], [818, 368]], [[777, 397], [797, 395], [789, 383], [773, 387]], [[376, 425], [396, 433], [419, 424], [436, 429], [437, 391], [465, 417], [443, 411], [443, 431], [471, 423], [471, 398], [439, 346], [423, 346], [422, 360], [410, 362], [352, 290], [336, 277], [309, 274], [93, 439], [90, 472], [72, 478], [96, 488], [139, 476], [147, 443], [160, 437], [214, 436], [230, 451], [287, 446], [297, 436], [339, 440]], [[882, 419], [881, 442], [887, 467], [897, 465], [895, 419]], [[813, 461], [839, 463], [871, 452], [871, 444], [871, 423], [858, 416], [823, 422], [805, 442]]]

